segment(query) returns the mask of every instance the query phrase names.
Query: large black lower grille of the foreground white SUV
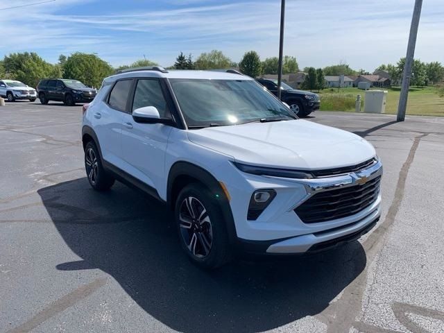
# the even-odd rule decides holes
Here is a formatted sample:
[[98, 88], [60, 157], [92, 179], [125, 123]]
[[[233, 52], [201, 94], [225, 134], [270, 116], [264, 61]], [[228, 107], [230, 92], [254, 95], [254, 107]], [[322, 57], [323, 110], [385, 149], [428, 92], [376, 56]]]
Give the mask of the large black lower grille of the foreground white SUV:
[[364, 185], [343, 187], [314, 194], [294, 212], [304, 223], [318, 223], [341, 219], [361, 212], [375, 202], [379, 194], [381, 176]]

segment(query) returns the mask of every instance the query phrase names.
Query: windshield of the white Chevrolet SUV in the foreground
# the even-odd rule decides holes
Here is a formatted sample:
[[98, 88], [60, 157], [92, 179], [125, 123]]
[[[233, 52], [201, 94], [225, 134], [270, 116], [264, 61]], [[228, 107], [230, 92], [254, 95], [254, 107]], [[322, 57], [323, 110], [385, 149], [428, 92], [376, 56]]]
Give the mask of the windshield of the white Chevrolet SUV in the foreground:
[[296, 119], [254, 80], [170, 79], [189, 127]]

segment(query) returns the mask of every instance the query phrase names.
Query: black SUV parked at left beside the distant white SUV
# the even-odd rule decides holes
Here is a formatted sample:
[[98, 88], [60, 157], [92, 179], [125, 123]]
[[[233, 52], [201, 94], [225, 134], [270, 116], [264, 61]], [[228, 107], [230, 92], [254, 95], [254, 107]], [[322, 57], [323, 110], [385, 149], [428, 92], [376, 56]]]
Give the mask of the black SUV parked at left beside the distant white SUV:
[[60, 101], [66, 105], [89, 103], [96, 96], [96, 89], [89, 88], [78, 80], [65, 78], [45, 78], [37, 85], [37, 96], [40, 103]]

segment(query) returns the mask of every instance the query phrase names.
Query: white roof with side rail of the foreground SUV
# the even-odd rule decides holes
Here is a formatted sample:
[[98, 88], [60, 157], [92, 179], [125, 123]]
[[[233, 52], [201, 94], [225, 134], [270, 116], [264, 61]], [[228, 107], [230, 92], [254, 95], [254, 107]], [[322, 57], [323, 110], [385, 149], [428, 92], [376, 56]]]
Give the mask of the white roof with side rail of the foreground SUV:
[[194, 71], [169, 69], [167, 73], [153, 70], [126, 71], [105, 78], [106, 81], [114, 81], [118, 78], [191, 78], [207, 80], [253, 80], [249, 76], [227, 73], [226, 71]]

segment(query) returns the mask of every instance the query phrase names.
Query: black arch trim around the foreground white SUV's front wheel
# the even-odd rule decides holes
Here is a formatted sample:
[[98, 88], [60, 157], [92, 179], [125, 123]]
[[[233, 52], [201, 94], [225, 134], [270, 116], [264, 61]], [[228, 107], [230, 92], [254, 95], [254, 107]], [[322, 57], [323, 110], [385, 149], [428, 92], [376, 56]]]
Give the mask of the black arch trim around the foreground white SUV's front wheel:
[[210, 189], [212, 193], [214, 193], [214, 196], [218, 198], [219, 204], [221, 205], [221, 212], [227, 227], [230, 244], [237, 244], [237, 233], [234, 225], [234, 218], [231, 212], [230, 201], [225, 195], [219, 181], [216, 180], [211, 173], [201, 167], [198, 167], [196, 164], [192, 164], [190, 162], [176, 162], [173, 164], [173, 166], [171, 166], [167, 183], [167, 203], [169, 207], [174, 207], [174, 200], [172, 198], [173, 185], [175, 180], [180, 176], [194, 178]]

